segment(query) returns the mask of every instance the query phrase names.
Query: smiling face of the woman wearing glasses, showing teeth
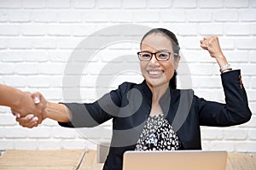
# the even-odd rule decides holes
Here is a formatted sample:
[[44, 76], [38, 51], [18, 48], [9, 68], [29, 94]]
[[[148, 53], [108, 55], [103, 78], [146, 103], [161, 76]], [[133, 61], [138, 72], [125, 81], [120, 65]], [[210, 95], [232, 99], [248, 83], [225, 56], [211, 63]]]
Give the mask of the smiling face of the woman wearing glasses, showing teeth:
[[[141, 51], [155, 53], [169, 51], [173, 53], [172, 42], [161, 33], [149, 34], [143, 39]], [[174, 58], [175, 57], [175, 58]], [[177, 69], [179, 56], [170, 55], [166, 61], [158, 61], [155, 55], [149, 61], [140, 61], [141, 71], [149, 87], [154, 88], [166, 83], [169, 84]]]

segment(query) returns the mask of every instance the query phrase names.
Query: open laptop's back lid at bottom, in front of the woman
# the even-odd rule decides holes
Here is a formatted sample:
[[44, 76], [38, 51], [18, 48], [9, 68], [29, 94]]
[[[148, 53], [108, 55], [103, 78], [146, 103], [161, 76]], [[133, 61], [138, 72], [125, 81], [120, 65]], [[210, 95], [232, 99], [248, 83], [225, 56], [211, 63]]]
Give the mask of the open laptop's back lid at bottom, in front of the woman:
[[125, 151], [123, 170], [225, 170], [227, 151]]

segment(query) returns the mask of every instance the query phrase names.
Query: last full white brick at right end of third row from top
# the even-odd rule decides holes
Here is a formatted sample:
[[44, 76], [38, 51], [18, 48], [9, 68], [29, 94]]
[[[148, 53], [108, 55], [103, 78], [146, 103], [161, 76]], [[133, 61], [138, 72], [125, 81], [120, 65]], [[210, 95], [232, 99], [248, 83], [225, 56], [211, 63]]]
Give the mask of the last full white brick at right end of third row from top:
[[225, 24], [224, 32], [228, 36], [248, 36], [250, 25], [248, 24]]

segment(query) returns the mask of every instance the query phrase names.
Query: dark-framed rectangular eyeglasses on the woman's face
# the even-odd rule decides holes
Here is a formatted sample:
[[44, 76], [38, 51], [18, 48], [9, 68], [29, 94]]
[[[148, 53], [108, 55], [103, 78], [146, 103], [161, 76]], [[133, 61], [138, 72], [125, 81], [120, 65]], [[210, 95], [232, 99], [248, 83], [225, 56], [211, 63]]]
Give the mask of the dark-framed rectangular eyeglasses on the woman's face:
[[163, 52], [158, 51], [155, 53], [151, 53], [149, 51], [137, 52], [137, 56], [141, 61], [149, 61], [152, 59], [153, 55], [155, 56], [155, 59], [157, 59], [158, 61], [166, 61], [170, 59], [171, 54], [177, 55], [175, 53], [171, 53], [168, 51], [163, 51]]

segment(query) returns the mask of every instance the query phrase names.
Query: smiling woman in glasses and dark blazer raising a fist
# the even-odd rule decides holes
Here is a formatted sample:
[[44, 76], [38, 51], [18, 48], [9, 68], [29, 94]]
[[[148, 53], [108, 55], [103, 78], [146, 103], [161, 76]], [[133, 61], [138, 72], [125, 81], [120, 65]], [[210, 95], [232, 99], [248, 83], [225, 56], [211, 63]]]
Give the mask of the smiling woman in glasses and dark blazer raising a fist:
[[[54, 104], [41, 94], [44, 116], [63, 127], [94, 127], [113, 119], [113, 137], [103, 169], [122, 169], [125, 150], [200, 150], [200, 126], [225, 127], [247, 122], [252, 115], [241, 84], [240, 71], [232, 71], [218, 37], [205, 37], [201, 48], [218, 62], [226, 104], [206, 101], [192, 90], [176, 89], [180, 59], [176, 36], [153, 29], [143, 37], [138, 52], [144, 81], [124, 82], [92, 104]], [[17, 119], [32, 127], [29, 118]]]

